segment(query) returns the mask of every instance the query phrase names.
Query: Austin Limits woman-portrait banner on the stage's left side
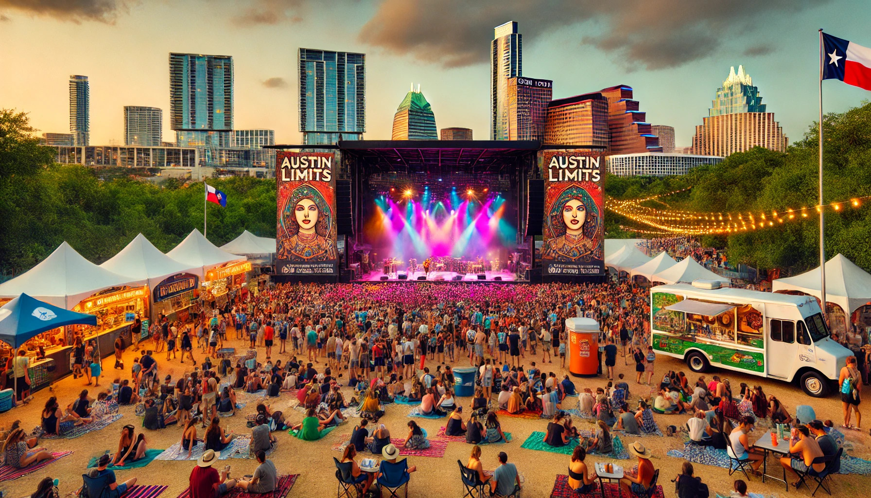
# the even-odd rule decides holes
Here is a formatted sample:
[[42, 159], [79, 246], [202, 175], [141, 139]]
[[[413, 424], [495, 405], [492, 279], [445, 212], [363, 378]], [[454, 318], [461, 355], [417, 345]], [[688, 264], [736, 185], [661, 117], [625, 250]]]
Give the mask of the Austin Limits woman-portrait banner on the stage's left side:
[[281, 275], [335, 275], [335, 163], [333, 153], [280, 151], [275, 271]]

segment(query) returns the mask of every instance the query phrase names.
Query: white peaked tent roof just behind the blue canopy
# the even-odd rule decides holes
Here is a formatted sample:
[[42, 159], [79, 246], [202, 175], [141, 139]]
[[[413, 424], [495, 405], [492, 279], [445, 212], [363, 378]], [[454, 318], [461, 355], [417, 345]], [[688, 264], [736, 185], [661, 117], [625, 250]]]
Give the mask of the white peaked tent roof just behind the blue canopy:
[[84, 259], [64, 242], [43, 261], [12, 280], [0, 283], [0, 297], [22, 293], [71, 310], [100, 290], [120, 285], [141, 286], [144, 279], [124, 276]]

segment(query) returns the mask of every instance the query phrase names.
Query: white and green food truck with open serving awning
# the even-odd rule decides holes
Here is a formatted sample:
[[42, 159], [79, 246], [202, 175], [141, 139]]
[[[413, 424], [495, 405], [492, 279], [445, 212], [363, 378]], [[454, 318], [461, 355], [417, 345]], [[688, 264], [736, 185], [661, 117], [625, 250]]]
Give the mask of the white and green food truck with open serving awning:
[[797, 382], [826, 396], [853, 353], [829, 337], [814, 297], [719, 288], [713, 281], [651, 289], [651, 345], [692, 372], [718, 366]]

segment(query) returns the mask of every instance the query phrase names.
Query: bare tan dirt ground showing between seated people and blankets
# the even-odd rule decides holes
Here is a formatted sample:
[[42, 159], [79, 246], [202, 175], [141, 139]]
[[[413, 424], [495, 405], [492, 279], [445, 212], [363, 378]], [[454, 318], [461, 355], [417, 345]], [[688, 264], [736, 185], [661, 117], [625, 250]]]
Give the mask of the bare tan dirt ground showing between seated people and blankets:
[[[231, 336], [234, 338], [235, 334], [233, 331], [228, 331], [227, 336], [228, 338]], [[276, 341], [276, 343], [277, 342], [278, 341]], [[151, 348], [152, 346], [150, 340], [145, 344], [148, 348]], [[247, 348], [247, 343], [246, 341], [232, 339], [229, 341], [229, 344], [226, 344], [226, 346], [234, 346], [237, 348], [237, 351], [244, 351]], [[273, 351], [277, 350], [278, 346], [276, 345]], [[458, 355], [462, 356], [462, 353], [458, 351]], [[264, 356], [265, 352], [263, 351], [263, 348], [259, 348], [258, 358], [260, 361], [263, 361]], [[204, 355], [203, 353], [196, 351], [195, 357], [198, 361], [201, 361]], [[132, 348], [128, 348], [127, 351], [125, 351], [124, 356], [125, 365], [127, 366], [127, 370], [124, 372], [114, 370], [112, 368], [113, 358], [106, 358], [103, 361], [104, 373], [103, 377], [100, 379], [100, 385], [111, 385], [112, 379], [115, 379], [116, 377], [130, 379], [129, 368], [130, 365], [132, 365], [133, 358], [134, 353], [132, 352]], [[173, 382], [175, 379], [178, 379], [179, 375], [191, 369], [189, 363], [182, 365], [179, 363], [178, 358], [166, 361], [165, 353], [155, 353], [154, 358], [158, 360], [161, 378], [166, 373], [170, 373], [172, 374]], [[282, 359], [282, 361], [285, 361], [289, 356], [278, 355], [273, 352], [273, 361], [279, 358]], [[540, 363], [540, 359], [540, 356], [538, 358], [527, 357], [523, 363], [528, 366], [530, 361], [536, 360], [538, 366], [544, 372], [556, 372], [557, 378], [562, 378], [563, 369], [559, 367], [559, 358], [554, 359], [552, 364], [545, 365]], [[468, 365], [468, 359], [466, 358], [457, 358], [457, 360], [458, 361], [453, 365]], [[634, 404], [635, 400], [638, 399], [638, 396], [644, 396], [649, 393], [649, 387], [634, 383], [634, 365], [631, 364], [631, 358], [629, 358], [628, 363], [629, 365], [624, 365], [623, 358], [618, 357], [617, 373], [625, 374], [627, 381], [630, 384], [630, 399]], [[323, 359], [321, 359], [320, 365], [316, 365], [316, 368], [321, 371], [322, 365]], [[689, 372], [686, 365], [675, 358], [658, 357], [654, 379], [657, 377], [661, 379], [662, 373], [670, 369]], [[692, 374], [692, 372], [689, 373]], [[781, 399], [791, 413], [794, 414], [796, 405], [811, 405], [814, 406], [818, 418], [821, 420], [831, 419], [835, 422], [835, 426], [840, 426], [842, 420], [841, 400], [836, 398], [834, 394], [827, 399], [813, 399], [801, 392], [797, 386], [782, 383], [777, 380], [760, 379], [752, 375], [729, 371], [719, 371], [717, 373], [719, 373], [720, 377], [723, 379], [730, 379], [733, 385], [733, 390], [736, 393], [738, 392], [738, 386], [741, 382], [745, 382], [749, 385], [761, 384], [767, 394], [774, 394]], [[708, 373], [708, 376], [710, 375], [711, 372]], [[697, 376], [690, 375], [689, 378], [691, 381], [694, 381]], [[572, 379], [578, 388], [591, 387], [594, 391], [598, 386], [604, 387], [607, 382], [607, 380], [602, 377], [592, 379]], [[51, 391], [49, 388], [46, 388], [37, 392], [29, 405], [21, 406], [11, 410], [10, 412], [0, 414], [0, 426], [8, 427], [13, 420], [21, 420], [22, 426], [27, 430], [30, 430], [30, 428], [39, 424], [39, 413], [44, 406], [45, 401], [51, 395], [56, 395], [61, 406], [66, 406], [77, 397], [78, 392], [83, 388], [84, 379], [74, 380], [71, 376], [62, 379], [52, 386]], [[350, 389], [348, 387], [344, 387], [343, 389], [346, 398], [350, 399]], [[93, 388], [91, 388], [91, 392], [94, 392]], [[269, 404], [273, 406], [273, 409], [283, 409], [287, 414], [288, 421], [292, 423], [300, 422], [303, 418], [302, 413], [293, 409], [286, 409], [287, 400], [289, 399], [290, 397], [287, 394], [284, 394], [280, 399], [270, 399]], [[469, 406], [470, 399], [461, 398], [460, 402], [463, 406]], [[240, 410], [240, 413], [237, 413], [236, 416], [222, 419], [222, 425], [236, 433], [250, 433], [250, 429], [247, 429], [245, 426], [245, 415], [253, 413], [255, 411], [255, 406], [255, 403], [249, 402], [245, 408]], [[866, 404], [863, 404], [861, 407], [864, 408], [865, 406]], [[386, 414], [381, 421], [388, 426], [388, 429], [394, 437], [404, 437], [407, 433], [406, 424], [408, 418], [406, 415], [408, 410], [409, 406], [388, 405]], [[2, 482], [0, 483], [0, 489], [10, 491], [11, 496], [13, 497], [29, 495], [36, 489], [37, 482], [44, 476], [48, 475], [60, 480], [60, 492], [62, 496], [71, 493], [81, 486], [81, 474], [84, 474], [87, 462], [92, 456], [103, 454], [105, 450], [111, 450], [112, 452], [115, 451], [118, 447], [118, 437], [122, 426], [125, 424], [132, 424], [137, 427], [137, 430], [144, 430], [140, 429], [141, 418], [133, 413], [132, 406], [122, 407], [121, 413], [124, 414], [124, 417], [111, 424], [111, 426], [100, 431], [85, 434], [83, 437], [78, 439], [41, 440], [39, 446], [47, 447], [50, 451], [73, 450], [75, 453], [65, 457], [63, 460], [52, 463], [40, 472], [24, 476], [16, 481]], [[668, 425], [681, 426], [687, 419], [685, 415], [657, 414], [654, 416], [661, 428], [665, 428], [665, 426]], [[445, 422], [444, 419], [415, 420], [422, 427], [426, 428], [429, 434], [435, 434], [439, 427], [444, 425]], [[331, 451], [330, 448], [334, 443], [339, 441], [342, 433], [351, 432], [355, 421], [356, 420], [352, 419], [347, 425], [341, 426], [340, 428], [335, 429], [332, 433], [327, 434], [324, 439], [314, 442], [296, 440], [287, 433], [275, 433], [279, 438], [279, 443], [277, 449], [273, 452], [271, 459], [276, 467], [278, 467], [279, 473], [300, 474], [300, 478], [296, 481], [294, 488], [290, 491], [288, 496], [319, 498], [335, 495], [335, 467], [332, 457], [338, 457], [340, 454]], [[545, 431], [547, 420], [524, 420], [503, 417], [500, 421], [503, 426], [503, 431], [513, 434], [513, 440], [506, 445], [483, 446], [482, 461], [484, 468], [495, 468], [498, 463], [496, 455], [500, 451], [504, 451], [508, 454], [509, 461], [514, 462], [517, 465], [518, 470], [525, 477], [523, 496], [549, 496], [556, 475], [567, 474], [570, 456], [527, 450], [520, 447], [520, 445], [523, 444], [523, 440], [526, 440], [533, 431]], [[865, 432], [844, 431], [847, 433], [847, 441], [852, 443], [854, 447], [854, 450], [847, 452], [847, 454], [868, 459], [869, 456], [871, 456], [871, 449], [868, 448], [869, 436], [867, 431], [868, 427], [871, 426], [871, 420], [864, 421], [862, 426], [865, 427]], [[578, 428], [591, 427], [592, 425], [589, 422], [583, 420], [578, 423]], [[751, 440], [754, 441], [763, 436], [768, 437], [768, 434], [763, 432], [761, 429], [757, 429], [756, 433], [751, 434]], [[166, 448], [179, 441], [181, 437], [181, 429], [179, 426], [169, 426], [159, 431], [145, 430], [145, 437], [148, 442], [148, 447]], [[665, 452], [670, 449], [681, 449], [683, 447], [679, 437], [632, 438], [631, 436], [621, 436], [621, 439], [624, 440], [626, 446], [638, 439], [641, 440], [646, 447], [652, 448], [653, 464], [655, 467], [660, 469], [659, 481], [663, 485], [665, 496], [675, 496], [674, 486], [670, 480], [673, 479], [676, 474], [679, 474], [683, 460], [666, 456]], [[451, 442], [448, 444], [447, 452], [441, 459], [408, 457], [409, 464], [416, 465], [418, 468], [417, 472], [412, 474], [408, 487], [408, 495], [421, 498], [462, 496], [463, 485], [458, 475], [456, 460], [462, 460], [463, 463], [465, 463], [469, 458], [470, 449], [471, 446], [468, 444]], [[587, 459], [588, 465], [593, 461], [611, 461], [612, 463], [621, 464], [627, 462], [627, 460], [610, 460], [593, 455]], [[634, 463], [633, 460], [629, 461]], [[223, 466], [223, 463], [224, 462], [221, 463], [221, 467]], [[244, 474], [253, 474], [254, 468], [256, 467], [256, 460], [230, 459], [226, 460], [226, 463], [229, 463], [233, 467], [231, 476], [237, 477]], [[771, 474], [772, 466], [778, 466], [779, 464], [777, 460], [770, 458], [768, 465], [769, 474]], [[169, 486], [169, 489], [165, 491], [161, 498], [173, 498], [178, 496], [187, 487], [188, 478], [193, 466], [194, 462], [192, 461], [154, 460], [147, 467], [119, 470], [117, 471], [117, 476], [118, 481], [125, 481], [132, 477], [137, 477], [139, 484], [166, 484]], [[733, 480], [737, 477], [729, 476], [726, 469], [719, 467], [699, 464], [694, 467], [696, 475], [701, 476], [703, 481], [707, 483], [712, 497], [714, 496], [714, 493], [727, 495], [732, 488]], [[774, 471], [774, 474], [779, 475], [780, 471], [777, 470], [779, 467], [775, 468], [776, 470]], [[835, 496], [861, 495], [861, 493], [867, 492], [868, 488], [871, 487], [871, 477], [869, 476], [853, 474], [836, 475], [834, 476], [833, 481], [833, 495]], [[778, 481], [769, 480], [762, 483], [759, 478], [751, 477], [751, 481], [748, 484], [749, 490], [754, 493], [778, 496], [787, 495], [784, 485]], [[862, 491], [863, 489], [865, 490], [864, 492]], [[793, 488], [789, 492], [790, 495], [810, 495], [810, 493], [811, 492], [808, 491], [807, 488], [801, 488], [800, 491], [795, 491]], [[824, 492], [820, 490], [820, 493]]]

